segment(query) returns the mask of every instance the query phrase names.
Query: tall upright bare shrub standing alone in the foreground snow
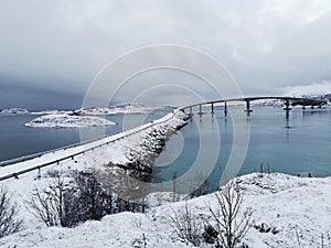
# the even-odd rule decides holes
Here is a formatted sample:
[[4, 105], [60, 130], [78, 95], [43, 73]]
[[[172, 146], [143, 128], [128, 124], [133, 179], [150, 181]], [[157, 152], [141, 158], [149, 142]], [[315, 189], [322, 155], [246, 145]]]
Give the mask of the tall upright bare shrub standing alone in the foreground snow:
[[217, 231], [217, 247], [234, 248], [249, 229], [253, 212], [248, 208], [239, 215], [244, 195], [238, 179], [228, 182], [215, 195], [216, 208], [207, 207], [212, 215], [210, 225]]

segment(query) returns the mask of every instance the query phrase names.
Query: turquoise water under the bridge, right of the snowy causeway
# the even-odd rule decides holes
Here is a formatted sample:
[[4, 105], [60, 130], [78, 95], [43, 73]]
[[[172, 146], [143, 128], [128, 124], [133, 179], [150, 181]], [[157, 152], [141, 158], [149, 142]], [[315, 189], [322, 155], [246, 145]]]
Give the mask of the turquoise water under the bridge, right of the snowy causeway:
[[[292, 109], [286, 119], [281, 108], [254, 106], [250, 117], [246, 117], [243, 106], [232, 107], [238, 117], [236, 132], [249, 130], [247, 154], [241, 165], [239, 174], [256, 172], [263, 164], [265, 171], [298, 174], [311, 172], [313, 176], [331, 175], [331, 109]], [[196, 109], [195, 109], [196, 110]], [[156, 181], [170, 181], [173, 174], [185, 174], [193, 162], [203, 174], [210, 174], [211, 182], [220, 182], [233, 149], [233, 122], [231, 116], [224, 117], [217, 108], [214, 117], [211, 109], [204, 115], [194, 115], [190, 125], [173, 136], [154, 164]], [[197, 111], [195, 111], [197, 112]], [[217, 132], [216, 130], [220, 130]], [[201, 134], [200, 134], [201, 133]], [[212, 140], [220, 136], [220, 143]], [[203, 138], [201, 138], [203, 137]], [[235, 144], [242, 145], [242, 144]], [[203, 154], [199, 154], [201, 148]], [[212, 160], [218, 149], [217, 160]], [[179, 152], [181, 151], [181, 152]], [[210, 152], [209, 152], [210, 151]], [[203, 157], [202, 160], [199, 157]], [[212, 172], [207, 169], [211, 164]]]

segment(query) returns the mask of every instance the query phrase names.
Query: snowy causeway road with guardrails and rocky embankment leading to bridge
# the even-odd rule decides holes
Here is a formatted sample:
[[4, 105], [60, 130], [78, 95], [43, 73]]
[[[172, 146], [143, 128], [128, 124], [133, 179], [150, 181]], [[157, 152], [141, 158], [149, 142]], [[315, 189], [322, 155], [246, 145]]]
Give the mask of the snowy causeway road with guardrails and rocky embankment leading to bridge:
[[[52, 163], [50, 166], [56, 166], [60, 164], [58, 160], [62, 160], [62, 158], [72, 157], [72, 160], [82, 160], [81, 155], [85, 157], [86, 161], [97, 157], [98, 161], [96, 162], [98, 164], [111, 163], [124, 168], [128, 164], [138, 165], [141, 164], [141, 162], [148, 162], [152, 159], [152, 155], [160, 153], [166, 140], [175, 130], [186, 125], [186, 118], [188, 117], [184, 114], [178, 110], [175, 114], [168, 114], [167, 116], [154, 120], [152, 123], [149, 122], [82, 145], [43, 152], [31, 160], [28, 159], [25, 161], [25, 159], [23, 159], [21, 162], [0, 168], [0, 174], [2, 177], [14, 173], [20, 174], [21, 171], [38, 168], [39, 165], [40, 168], [43, 168], [43, 164], [52, 162], [54, 164]], [[98, 152], [103, 153], [104, 157], [96, 154], [97, 149], [100, 150]], [[88, 152], [85, 153], [85, 150], [88, 150]], [[152, 151], [152, 155], [148, 150]], [[146, 165], [151, 166], [150, 162]], [[71, 161], [65, 159], [61, 163], [71, 164]], [[76, 163], [78, 162], [76, 161], [75, 164]], [[84, 164], [84, 159], [79, 164]], [[50, 166], [47, 165], [47, 168]]]

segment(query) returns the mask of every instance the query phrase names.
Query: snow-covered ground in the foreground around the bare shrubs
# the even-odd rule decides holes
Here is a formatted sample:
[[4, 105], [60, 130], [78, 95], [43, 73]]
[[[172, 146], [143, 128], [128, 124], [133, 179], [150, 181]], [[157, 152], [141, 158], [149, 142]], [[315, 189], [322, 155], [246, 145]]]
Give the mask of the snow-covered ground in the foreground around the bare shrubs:
[[[252, 227], [244, 242], [248, 247], [324, 247], [331, 246], [331, 177], [302, 179], [285, 174], [259, 177], [242, 176], [244, 206], [254, 211], [252, 225], [267, 224], [278, 233], [260, 233]], [[214, 194], [188, 201], [197, 217], [210, 216], [207, 204], [216, 205]], [[186, 247], [171, 227], [173, 211], [185, 202], [163, 204], [146, 214], [120, 213], [100, 222], [86, 222], [76, 228], [46, 228], [28, 223], [21, 233], [0, 239], [1, 247]], [[298, 237], [298, 238], [297, 238]], [[298, 241], [299, 239], [299, 241]], [[298, 242], [301, 245], [299, 246]], [[139, 246], [140, 244], [140, 246]], [[212, 247], [205, 244], [202, 247]]]

